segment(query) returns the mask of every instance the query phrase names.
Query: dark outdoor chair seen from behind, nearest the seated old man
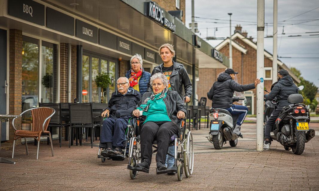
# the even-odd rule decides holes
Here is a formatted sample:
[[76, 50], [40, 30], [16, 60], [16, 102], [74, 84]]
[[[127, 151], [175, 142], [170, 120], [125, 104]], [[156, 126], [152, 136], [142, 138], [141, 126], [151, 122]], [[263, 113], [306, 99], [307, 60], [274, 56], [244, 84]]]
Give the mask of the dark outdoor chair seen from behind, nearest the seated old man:
[[[70, 109], [70, 131], [69, 131], [69, 147], [71, 147], [72, 130], [76, 129], [76, 134], [78, 135], [78, 130], [81, 132], [82, 128], [91, 128], [91, 148], [93, 148], [93, 131], [98, 124], [93, 122], [93, 111], [91, 103], [69, 103]], [[80, 135], [80, 145], [82, 145], [82, 136]], [[76, 136], [76, 143], [78, 144], [78, 139]]]

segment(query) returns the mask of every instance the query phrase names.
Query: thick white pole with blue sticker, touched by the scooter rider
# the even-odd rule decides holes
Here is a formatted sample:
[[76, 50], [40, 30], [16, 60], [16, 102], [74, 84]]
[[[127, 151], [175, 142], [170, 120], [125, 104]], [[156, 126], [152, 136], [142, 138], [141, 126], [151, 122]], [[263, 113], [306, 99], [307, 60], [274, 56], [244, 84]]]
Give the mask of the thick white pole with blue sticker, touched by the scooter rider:
[[[257, 78], [263, 77], [264, 73], [264, 18], [265, 18], [265, 1], [257, 0]], [[256, 87], [256, 150], [263, 151], [263, 83]]]

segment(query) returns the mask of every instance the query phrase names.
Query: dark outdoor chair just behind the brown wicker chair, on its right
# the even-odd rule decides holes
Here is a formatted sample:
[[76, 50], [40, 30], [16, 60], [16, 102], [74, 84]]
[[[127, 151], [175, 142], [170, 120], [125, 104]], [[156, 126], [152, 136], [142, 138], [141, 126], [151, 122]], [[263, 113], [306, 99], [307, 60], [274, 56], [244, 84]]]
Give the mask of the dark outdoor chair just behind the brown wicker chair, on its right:
[[[61, 104], [60, 103], [39, 103], [39, 107], [51, 107], [56, 110], [56, 113], [51, 117], [50, 123], [48, 125], [49, 131], [52, 136], [52, 128], [57, 127], [59, 129], [59, 141], [60, 147], [62, 146], [62, 127], [70, 126], [69, 123], [62, 123], [62, 112], [61, 112]], [[52, 137], [51, 137], [52, 138]], [[49, 138], [48, 138], [49, 143]]]

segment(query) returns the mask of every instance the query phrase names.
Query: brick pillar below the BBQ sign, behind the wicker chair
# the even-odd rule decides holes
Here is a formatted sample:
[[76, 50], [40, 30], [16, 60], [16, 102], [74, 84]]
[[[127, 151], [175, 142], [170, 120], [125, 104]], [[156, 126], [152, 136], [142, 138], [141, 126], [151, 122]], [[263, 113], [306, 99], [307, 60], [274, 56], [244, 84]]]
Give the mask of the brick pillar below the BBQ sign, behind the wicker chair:
[[[21, 113], [22, 97], [22, 31], [10, 29], [9, 38], [9, 113], [19, 115]], [[9, 122], [9, 140], [13, 140], [14, 130]], [[16, 129], [21, 129], [21, 118], [15, 120]], [[21, 143], [18, 139], [17, 144]]]

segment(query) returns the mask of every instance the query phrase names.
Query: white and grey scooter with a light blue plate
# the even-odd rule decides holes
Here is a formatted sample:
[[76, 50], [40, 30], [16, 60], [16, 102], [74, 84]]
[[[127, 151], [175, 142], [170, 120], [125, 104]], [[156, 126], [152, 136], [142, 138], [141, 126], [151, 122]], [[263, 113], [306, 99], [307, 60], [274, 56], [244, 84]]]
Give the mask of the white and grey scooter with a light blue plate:
[[[246, 98], [243, 95], [241, 98], [237, 96], [233, 97], [233, 102], [240, 102], [241, 100], [244, 100], [246, 103]], [[233, 133], [233, 130], [238, 117], [239, 115], [232, 115], [229, 111], [221, 108], [212, 108], [209, 111], [210, 131], [209, 136], [206, 138], [214, 145], [215, 149], [223, 148], [226, 141], [229, 141], [232, 147], [237, 145], [239, 136]]]

